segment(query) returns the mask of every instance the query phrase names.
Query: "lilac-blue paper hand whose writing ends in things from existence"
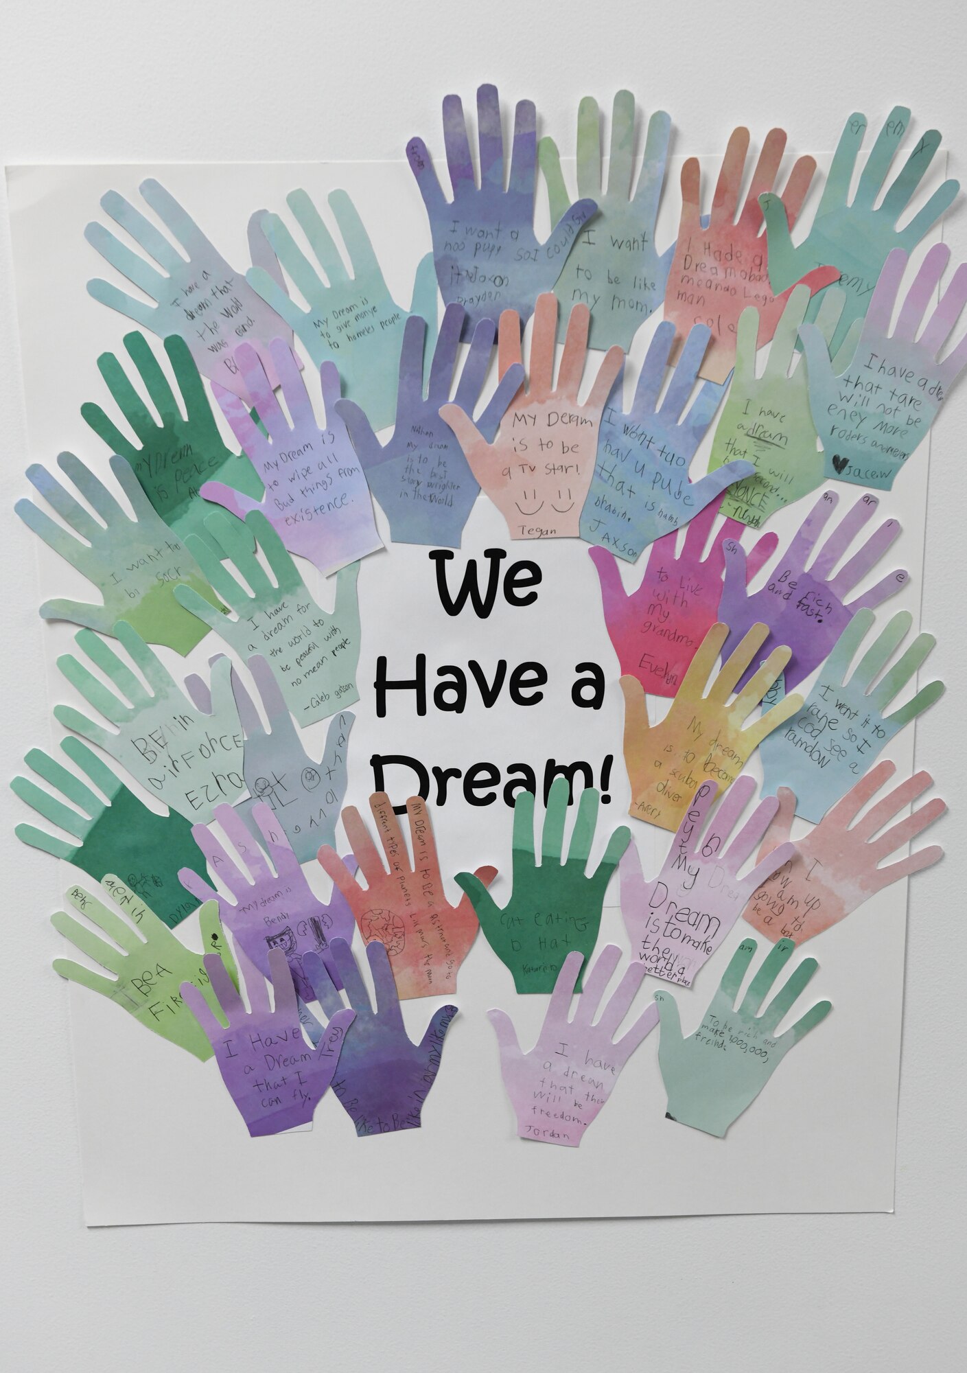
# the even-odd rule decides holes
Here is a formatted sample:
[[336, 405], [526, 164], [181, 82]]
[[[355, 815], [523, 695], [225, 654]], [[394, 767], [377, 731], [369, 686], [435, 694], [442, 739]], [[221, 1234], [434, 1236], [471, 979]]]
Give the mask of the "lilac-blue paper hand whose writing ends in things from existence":
[[255, 424], [238, 395], [214, 387], [225, 419], [264, 482], [265, 494], [253, 500], [221, 482], [205, 482], [202, 496], [238, 519], [258, 511], [290, 553], [308, 559], [328, 577], [383, 546], [369, 487], [337, 409], [341, 382], [335, 364], [323, 362], [319, 369], [327, 422], [320, 428], [291, 350], [276, 339], [271, 353], [291, 423], [251, 347], [240, 347], [236, 357], [260, 423]]

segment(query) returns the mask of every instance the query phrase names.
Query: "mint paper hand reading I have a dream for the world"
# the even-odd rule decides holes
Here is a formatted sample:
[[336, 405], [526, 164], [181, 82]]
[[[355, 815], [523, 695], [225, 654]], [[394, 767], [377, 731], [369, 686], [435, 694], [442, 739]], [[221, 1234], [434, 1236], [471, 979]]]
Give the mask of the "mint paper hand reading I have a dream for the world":
[[[209, 542], [191, 537], [191, 551], [205, 574], [238, 616], [212, 610], [190, 586], [176, 597], [235, 649], [239, 658], [264, 654], [272, 659], [282, 693], [299, 726], [315, 725], [360, 699], [356, 667], [360, 658], [360, 610], [356, 593], [359, 563], [335, 575], [335, 607], [326, 611], [309, 595], [277, 533], [260, 511], [244, 526], [227, 515], [209, 515]], [[275, 582], [271, 582], [251, 548], [251, 535], [262, 546]], [[220, 559], [229, 560], [250, 588], [240, 585]]]

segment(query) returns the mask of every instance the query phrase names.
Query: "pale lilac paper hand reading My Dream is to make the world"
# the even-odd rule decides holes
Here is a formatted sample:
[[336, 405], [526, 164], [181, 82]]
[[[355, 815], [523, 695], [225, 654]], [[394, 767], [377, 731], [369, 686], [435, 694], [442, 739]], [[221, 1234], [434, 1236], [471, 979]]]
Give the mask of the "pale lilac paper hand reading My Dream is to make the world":
[[736, 833], [739, 818], [755, 792], [755, 781], [739, 777], [712, 814], [717, 791], [713, 781], [703, 781], [698, 788], [654, 881], [644, 880], [633, 842], [618, 864], [621, 916], [632, 957], [652, 978], [680, 987], [691, 987], [742, 914], [751, 892], [795, 855], [795, 846], [783, 843], [765, 862], [740, 877], [739, 869], [765, 835], [779, 802], [775, 796], [760, 800]]

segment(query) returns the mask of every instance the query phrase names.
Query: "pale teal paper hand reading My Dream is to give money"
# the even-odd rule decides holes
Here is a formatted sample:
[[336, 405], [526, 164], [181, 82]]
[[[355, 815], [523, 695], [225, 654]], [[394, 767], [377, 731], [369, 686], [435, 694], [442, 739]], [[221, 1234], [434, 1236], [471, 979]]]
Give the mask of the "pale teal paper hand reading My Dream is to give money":
[[[290, 191], [286, 205], [302, 229], [317, 266], [277, 214], [262, 214], [261, 225], [308, 309], [288, 298], [275, 272], [255, 265], [249, 272], [249, 283], [294, 330], [316, 367], [330, 360], [338, 365], [346, 395], [365, 409], [376, 428], [383, 428], [393, 423], [393, 373], [407, 310], [390, 295], [369, 235], [345, 191], [332, 191], [328, 205], [346, 246], [352, 276], [310, 196], [305, 191]], [[319, 275], [320, 269], [326, 280]], [[437, 283], [429, 253], [416, 266], [409, 313], [430, 320], [435, 328]], [[338, 398], [338, 389], [335, 394]], [[326, 412], [330, 412], [328, 398]], [[258, 413], [262, 413], [261, 406]]]

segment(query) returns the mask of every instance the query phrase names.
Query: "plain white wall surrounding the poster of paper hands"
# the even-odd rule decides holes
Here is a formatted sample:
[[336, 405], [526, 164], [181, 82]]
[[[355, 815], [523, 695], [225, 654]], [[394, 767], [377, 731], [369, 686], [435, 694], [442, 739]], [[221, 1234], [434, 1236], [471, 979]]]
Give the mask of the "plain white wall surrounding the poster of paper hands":
[[[32, 0], [7, 4], [0, 25], [0, 159], [398, 157], [415, 132], [438, 148], [445, 92], [468, 100], [481, 80], [494, 80], [507, 100], [533, 96], [544, 126], [565, 140], [581, 95], [608, 103], [626, 85], [646, 110], [670, 111], [676, 151], [696, 152], [720, 150], [740, 121], [760, 135], [783, 122], [798, 151], [828, 150], [852, 110], [876, 121], [907, 102], [919, 130], [945, 133], [952, 174], [967, 181], [966, 30], [953, 0], [494, 0], [466, 18], [440, 0]], [[964, 202], [946, 229], [956, 258], [967, 257]], [[27, 448], [5, 218], [0, 235], [8, 507]], [[10, 1366], [955, 1366], [966, 1074], [960, 1027], [935, 1008], [957, 1004], [963, 976], [963, 861], [952, 850], [967, 796], [963, 750], [948, 735], [963, 710], [956, 674], [967, 658], [957, 575], [966, 435], [967, 389], [942, 416], [933, 454], [923, 623], [940, 640], [931, 665], [953, 691], [919, 729], [918, 763], [955, 813], [945, 862], [912, 888], [896, 1215], [88, 1232], [66, 997], [49, 972], [49, 865], [14, 840], [5, 796], [1, 928], [12, 1008], [5, 1001], [0, 1015], [0, 1354]], [[36, 553], [12, 515], [3, 530], [5, 778], [29, 744], [48, 737], [48, 724]]]

